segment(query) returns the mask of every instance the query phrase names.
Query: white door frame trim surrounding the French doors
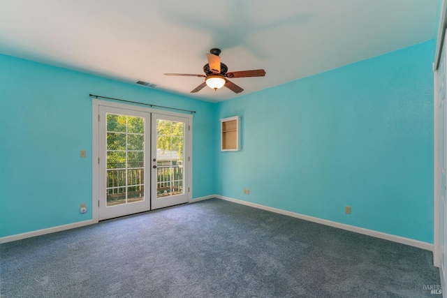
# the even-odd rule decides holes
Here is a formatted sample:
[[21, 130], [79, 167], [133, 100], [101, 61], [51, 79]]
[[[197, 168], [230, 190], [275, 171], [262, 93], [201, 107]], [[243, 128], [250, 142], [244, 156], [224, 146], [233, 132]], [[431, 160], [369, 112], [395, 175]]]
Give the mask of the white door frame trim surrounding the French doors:
[[[193, 115], [192, 114], [183, 114], [179, 112], [170, 112], [166, 110], [157, 110], [150, 107], [142, 107], [139, 105], [127, 105], [124, 103], [115, 103], [112, 101], [107, 100], [99, 100], [97, 98], [91, 99], [92, 109], [91, 109], [91, 120], [92, 120], [92, 127], [93, 127], [93, 133], [92, 133], [92, 148], [91, 148], [91, 163], [92, 163], [92, 197], [91, 197], [91, 207], [92, 207], [92, 220], [95, 223], [98, 223], [99, 221], [99, 208], [98, 208], [98, 200], [99, 200], [99, 166], [98, 166], [98, 158], [99, 158], [99, 121], [98, 121], [98, 114], [99, 114], [99, 106], [103, 105], [106, 107], [117, 107], [119, 109], [123, 110], [136, 110], [136, 111], [142, 111], [142, 112], [149, 112], [149, 113], [155, 113], [155, 114], [164, 114], [168, 116], [174, 116], [174, 117], [182, 117], [188, 119], [189, 122], [189, 130], [185, 130], [185, 137], [189, 137], [189, 142], [187, 144], [188, 148], [185, 148], [189, 152], [189, 167], [186, 172], [189, 179], [186, 181], [185, 188], [189, 188], [188, 193], [188, 202], [192, 202], [192, 193], [193, 193], [193, 176], [192, 176], [192, 164], [193, 164], [193, 158], [192, 158], [192, 149], [193, 149]], [[185, 158], [186, 159], [186, 158]], [[186, 161], [185, 161], [186, 162]]]

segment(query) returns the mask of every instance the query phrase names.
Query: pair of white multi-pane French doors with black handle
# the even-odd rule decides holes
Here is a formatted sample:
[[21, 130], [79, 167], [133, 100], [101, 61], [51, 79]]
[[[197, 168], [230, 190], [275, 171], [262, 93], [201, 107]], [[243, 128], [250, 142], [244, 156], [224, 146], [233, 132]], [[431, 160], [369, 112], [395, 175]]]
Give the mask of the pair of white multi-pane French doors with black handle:
[[189, 200], [189, 118], [98, 107], [98, 219]]

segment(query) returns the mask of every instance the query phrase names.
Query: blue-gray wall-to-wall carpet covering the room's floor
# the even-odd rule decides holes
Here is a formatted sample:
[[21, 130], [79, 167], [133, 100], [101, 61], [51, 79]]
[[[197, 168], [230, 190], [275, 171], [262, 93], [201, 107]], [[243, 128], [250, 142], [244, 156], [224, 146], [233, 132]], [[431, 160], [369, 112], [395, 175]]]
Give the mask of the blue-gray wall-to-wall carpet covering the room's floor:
[[6, 297], [441, 297], [432, 253], [223, 200], [0, 246]]

